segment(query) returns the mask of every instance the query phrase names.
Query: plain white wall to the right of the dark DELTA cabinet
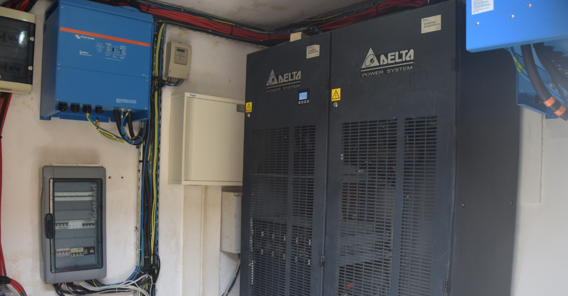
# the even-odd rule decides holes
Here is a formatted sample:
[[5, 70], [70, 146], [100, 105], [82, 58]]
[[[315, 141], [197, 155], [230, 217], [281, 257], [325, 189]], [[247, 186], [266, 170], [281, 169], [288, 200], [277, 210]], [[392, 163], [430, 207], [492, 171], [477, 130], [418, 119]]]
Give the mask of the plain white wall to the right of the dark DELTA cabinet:
[[[568, 124], [559, 119], [542, 120], [542, 116], [531, 111], [525, 111], [523, 117], [532, 121], [533, 126], [538, 126], [540, 120], [542, 122], [541, 131], [523, 129], [521, 140], [523, 146], [542, 143], [542, 187], [541, 190], [519, 193], [512, 295], [566, 295]], [[540, 158], [535, 155], [540, 151], [532, 150], [532, 156], [523, 157], [521, 165], [531, 163], [532, 172], [524, 174], [538, 177], [537, 171], [541, 168], [529, 158]]]

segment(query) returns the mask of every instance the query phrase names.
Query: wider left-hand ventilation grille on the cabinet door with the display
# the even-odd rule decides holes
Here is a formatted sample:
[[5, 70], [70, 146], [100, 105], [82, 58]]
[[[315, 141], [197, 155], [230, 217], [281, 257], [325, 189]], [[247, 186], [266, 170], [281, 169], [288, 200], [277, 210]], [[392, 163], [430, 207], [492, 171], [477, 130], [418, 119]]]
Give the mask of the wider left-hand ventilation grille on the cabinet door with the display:
[[250, 191], [249, 291], [253, 296], [283, 296], [289, 129], [254, 130]]

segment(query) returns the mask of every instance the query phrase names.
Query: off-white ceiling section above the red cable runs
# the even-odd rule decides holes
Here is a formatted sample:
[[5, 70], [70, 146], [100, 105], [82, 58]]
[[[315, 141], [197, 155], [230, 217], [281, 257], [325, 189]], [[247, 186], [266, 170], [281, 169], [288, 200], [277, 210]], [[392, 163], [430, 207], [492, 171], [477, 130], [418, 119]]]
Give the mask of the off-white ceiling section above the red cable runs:
[[365, 0], [160, 0], [261, 29], [275, 29]]

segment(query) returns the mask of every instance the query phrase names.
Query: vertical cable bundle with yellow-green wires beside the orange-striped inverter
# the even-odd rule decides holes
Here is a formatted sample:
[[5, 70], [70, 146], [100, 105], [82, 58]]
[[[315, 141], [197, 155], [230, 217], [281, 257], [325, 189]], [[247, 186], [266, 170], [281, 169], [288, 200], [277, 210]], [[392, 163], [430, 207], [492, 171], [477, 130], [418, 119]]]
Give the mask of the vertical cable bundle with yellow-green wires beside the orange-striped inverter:
[[[140, 215], [139, 215], [139, 264], [126, 281], [105, 285], [98, 280], [88, 280], [74, 284], [72, 282], [54, 284], [59, 296], [94, 295], [103, 293], [120, 293], [133, 291], [137, 295], [154, 296], [156, 281], [160, 274], [160, 256], [158, 256], [158, 194], [160, 175], [160, 117], [161, 89], [165, 85], [179, 85], [182, 81], [167, 81], [162, 76], [162, 56], [164, 52], [164, 23], [158, 23], [154, 34], [152, 59], [153, 76], [152, 96], [149, 120], [143, 123], [143, 134], [140, 137]], [[122, 112], [122, 111], [119, 111]], [[128, 112], [130, 113], [130, 112]], [[121, 113], [124, 122], [124, 112]], [[90, 117], [87, 115], [87, 119]], [[93, 122], [91, 121], [91, 124]], [[94, 125], [94, 124], [93, 124]], [[99, 128], [99, 131], [102, 129]], [[119, 129], [124, 132], [124, 126]], [[118, 137], [118, 136], [116, 136]], [[125, 138], [126, 140], [126, 138]]]

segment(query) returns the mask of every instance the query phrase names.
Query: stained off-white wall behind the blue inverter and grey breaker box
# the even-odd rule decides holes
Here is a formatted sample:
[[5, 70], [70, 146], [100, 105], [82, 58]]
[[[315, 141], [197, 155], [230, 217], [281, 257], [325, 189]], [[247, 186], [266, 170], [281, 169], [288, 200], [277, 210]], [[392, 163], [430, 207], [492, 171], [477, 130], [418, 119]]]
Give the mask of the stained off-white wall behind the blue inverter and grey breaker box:
[[[37, 16], [34, 90], [13, 95], [3, 130], [2, 247], [7, 273], [24, 286], [28, 295], [55, 295], [39, 274], [39, 169], [52, 163], [102, 164], [107, 175], [107, 278], [117, 282], [130, 276], [136, 261], [137, 150], [110, 141], [86, 121], [39, 120], [41, 49], [44, 11], [51, 2], [40, 0], [32, 9]], [[160, 174], [160, 257], [158, 295], [181, 294], [182, 185], [168, 184], [170, 94], [199, 94], [244, 100], [246, 55], [260, 50], [204, 33], [168, 27], [168, 41], [193, 46], [189, 82], [166, 88], [162, 103]], [[116, 130], [114, 123], [103, 128]], [[222, 257], [232, 273], [234, 260]], [[233, 265], [231, 265], [233, 264]], [[226, 282], [226, 281], [225, 281]], [[223, 281], [222, 281], [223, 284]], [[221, 289], [225, 289], [222, 286]]]

